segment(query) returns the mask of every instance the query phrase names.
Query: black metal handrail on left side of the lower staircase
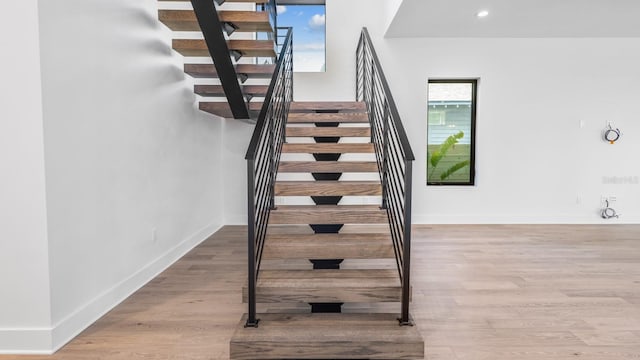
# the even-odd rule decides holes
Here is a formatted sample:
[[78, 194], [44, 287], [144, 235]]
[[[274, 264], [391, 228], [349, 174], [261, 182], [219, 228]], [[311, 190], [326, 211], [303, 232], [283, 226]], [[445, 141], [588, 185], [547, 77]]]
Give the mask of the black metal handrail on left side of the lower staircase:
[[285, 125], [293, 100], [292, 29], [280, 51], [271, 84], [265, 96], [245, 159], [248, 190], [248, 318], [246, 326], [258, 326], [256, 282], [267, 234], [269, 214], [274, 208], [274, 185], [285, 141]]

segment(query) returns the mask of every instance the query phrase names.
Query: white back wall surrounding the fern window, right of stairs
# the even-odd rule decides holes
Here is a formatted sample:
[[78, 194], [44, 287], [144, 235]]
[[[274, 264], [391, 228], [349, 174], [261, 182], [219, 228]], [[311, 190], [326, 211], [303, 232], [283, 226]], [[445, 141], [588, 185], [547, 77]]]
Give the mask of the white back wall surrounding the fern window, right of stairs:
[[[367, 4], [327, 1], [327, 72], [296, 74], [295, 96], [353, 100], [369, 28], [417, 156], [415, 223], [640, 222], [640, 184], [603, 181], [640, 176], [639, 39], [384, 39], [386, 15]], [[425, 185], [430, 77], [480, 78], [474, 187]], [[600, 138], [608, 120], [624, 132], [616, 145]], [[599, 218], [602, 195], [620, 219]]]

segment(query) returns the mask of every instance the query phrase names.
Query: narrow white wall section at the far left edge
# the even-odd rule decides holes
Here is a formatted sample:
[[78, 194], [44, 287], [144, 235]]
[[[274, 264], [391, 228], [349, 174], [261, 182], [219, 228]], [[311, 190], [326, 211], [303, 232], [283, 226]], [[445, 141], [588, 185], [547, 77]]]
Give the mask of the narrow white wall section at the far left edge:
[[0, 353], [51, 346], [38, 7], [10, 10], [0, 13]]

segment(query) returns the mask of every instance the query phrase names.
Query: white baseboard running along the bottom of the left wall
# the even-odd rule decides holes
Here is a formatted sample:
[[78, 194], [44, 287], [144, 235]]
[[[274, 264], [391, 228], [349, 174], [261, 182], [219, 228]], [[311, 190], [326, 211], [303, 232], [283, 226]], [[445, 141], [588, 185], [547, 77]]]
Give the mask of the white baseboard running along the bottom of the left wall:
[[0, 329], [0, 354], [52, 354], [96, 320], [131, 296], [223, 224], [205, 226], [140, 270], [78, 308], [52, 328]]

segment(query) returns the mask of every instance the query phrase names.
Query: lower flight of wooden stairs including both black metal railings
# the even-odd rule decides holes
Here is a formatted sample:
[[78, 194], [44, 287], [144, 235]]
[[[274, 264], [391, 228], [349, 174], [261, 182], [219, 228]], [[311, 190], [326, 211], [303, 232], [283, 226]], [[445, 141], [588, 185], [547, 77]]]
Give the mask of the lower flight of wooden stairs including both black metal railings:
[[246, 157], [248, 312], [231, 359], [424, 358], [409, 315], [413, 153], [366, 29], [357, 54], [348, 102], [292, 101], [278, 61], [281, 96]]

